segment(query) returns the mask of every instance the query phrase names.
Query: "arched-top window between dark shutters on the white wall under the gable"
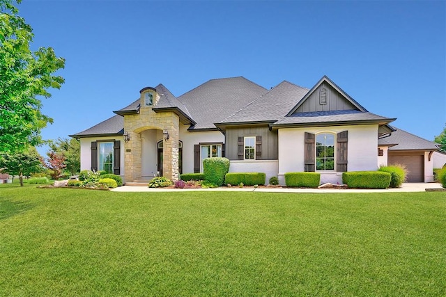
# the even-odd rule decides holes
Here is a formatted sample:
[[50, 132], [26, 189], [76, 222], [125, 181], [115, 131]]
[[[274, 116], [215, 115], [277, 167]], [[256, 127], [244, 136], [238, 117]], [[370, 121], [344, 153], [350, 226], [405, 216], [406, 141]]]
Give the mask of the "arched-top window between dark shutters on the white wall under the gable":
[[334, 134], [316, 135], [316, 170], [334, 170]]

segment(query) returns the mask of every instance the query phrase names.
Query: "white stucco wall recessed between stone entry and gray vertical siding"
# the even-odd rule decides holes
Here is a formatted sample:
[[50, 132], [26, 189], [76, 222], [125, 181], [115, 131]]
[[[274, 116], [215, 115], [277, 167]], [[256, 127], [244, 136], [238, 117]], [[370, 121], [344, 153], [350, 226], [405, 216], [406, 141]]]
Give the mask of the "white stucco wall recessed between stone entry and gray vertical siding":
[[220, 131], [187, 131], [190, 125], [180, 124], [180, 141], [183, 141], [183, 173], [194, 172], [194, 145], [199, 143], [224, 143]]

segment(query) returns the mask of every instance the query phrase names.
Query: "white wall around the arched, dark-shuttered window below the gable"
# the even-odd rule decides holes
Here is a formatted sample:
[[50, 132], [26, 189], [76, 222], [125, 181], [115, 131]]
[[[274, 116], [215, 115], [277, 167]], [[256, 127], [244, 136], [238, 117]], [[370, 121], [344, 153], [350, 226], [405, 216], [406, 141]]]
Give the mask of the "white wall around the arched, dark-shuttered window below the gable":
[[[285, 184], [286, 172], [302, 172], [305, 166], [305, 132], [334, 133], [348, 131], [348, 171], [378, 168], [378, 125], [279, 129], [279, 182]], [[336, 157], [336, 156], [335, 156]], [[341, 183], [341, 172], [321, 172], [321, 183]]]

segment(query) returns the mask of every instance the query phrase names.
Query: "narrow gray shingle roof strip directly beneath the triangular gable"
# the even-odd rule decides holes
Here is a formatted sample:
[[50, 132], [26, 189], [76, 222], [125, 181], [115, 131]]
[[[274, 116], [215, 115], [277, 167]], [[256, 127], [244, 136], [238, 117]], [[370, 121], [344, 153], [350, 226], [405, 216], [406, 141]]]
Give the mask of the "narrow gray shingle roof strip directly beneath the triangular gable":
[[385, 118], [381, 115], [376, 115], [374, 113], [365, 113], [356, 110], [347, 111], [315, 111], [309, 113], [294, 113], [291, 116], [283, 117], [278, 120], [272, 127], [282, 126], [282, 125], [329, 125], [336, 124], [341, 125], [343, 123], [348, 124], [349, 122], [376, 122], [379, 124], [387, 124], [393, 122], [395, 119]]

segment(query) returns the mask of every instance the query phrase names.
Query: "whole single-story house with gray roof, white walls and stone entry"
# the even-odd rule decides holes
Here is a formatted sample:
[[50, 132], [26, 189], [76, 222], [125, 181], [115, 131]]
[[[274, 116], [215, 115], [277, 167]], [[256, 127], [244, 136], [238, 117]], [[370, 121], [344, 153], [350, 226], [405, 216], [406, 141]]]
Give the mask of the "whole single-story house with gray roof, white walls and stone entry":
[[410, 182], [433, 180], [438, 147], [370, 113], [328, 77], [312, 88], [282, 81], [270, 90], [245, 79], [211, 79], [176, 97], [146, 87], [116, 115], [70, 135], [81, 143], [81, 169], [125, 182], [202, 172], [202, 160], [226, 156], [230, 172], [316, 171], [341, 183], [342, 172], [401, 163]]

